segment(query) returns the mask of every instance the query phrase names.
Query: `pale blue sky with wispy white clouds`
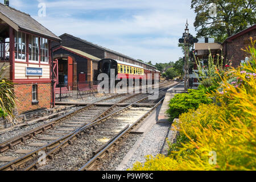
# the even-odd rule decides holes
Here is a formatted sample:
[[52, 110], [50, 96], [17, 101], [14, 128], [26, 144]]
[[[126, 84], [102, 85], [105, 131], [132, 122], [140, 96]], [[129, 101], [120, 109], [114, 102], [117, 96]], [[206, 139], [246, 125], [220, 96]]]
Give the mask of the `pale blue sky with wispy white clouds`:
[[177, 44], [187, 19], [196, 36], [191, 0], [10, 0], [10, 6], [57, 36], [71, 34], [153, 64], [183, 57]]

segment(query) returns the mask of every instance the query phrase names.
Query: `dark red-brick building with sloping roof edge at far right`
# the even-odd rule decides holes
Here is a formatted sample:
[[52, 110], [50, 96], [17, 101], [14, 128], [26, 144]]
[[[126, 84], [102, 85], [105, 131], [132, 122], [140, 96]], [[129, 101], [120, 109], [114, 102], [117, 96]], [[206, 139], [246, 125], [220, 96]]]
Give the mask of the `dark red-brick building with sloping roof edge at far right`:
[[245, 49], [251, 44], [250, 37], [253, 40], [256, 39], [256, 24], [230, 36], [222, 43], [224, 57], [227, 60], [232, 60], [233, 67], [238, 67], [241, 61], [249, 56], [241, 48]]

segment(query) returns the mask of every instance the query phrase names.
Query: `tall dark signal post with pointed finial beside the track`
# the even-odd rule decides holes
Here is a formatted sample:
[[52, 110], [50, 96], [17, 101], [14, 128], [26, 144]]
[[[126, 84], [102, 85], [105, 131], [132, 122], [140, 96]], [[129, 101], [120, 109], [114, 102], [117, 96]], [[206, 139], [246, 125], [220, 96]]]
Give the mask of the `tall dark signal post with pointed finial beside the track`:
[[189, 60], [189, 48], [193, 46], [194, 43], [198, 42], [198, 39], [194, 38], [193, 35], [189, 34], [188, 29], [188, 20], [185, 24], [185, 32], [183, 33], [183, 36], [181, 39], [179, 39], [179, 43], [184, 44], [184, 52], [185, 52], [185, 77], [184, 77], [184, 92], [187, 92], [187, 83], [188, 83], [188, 60]]

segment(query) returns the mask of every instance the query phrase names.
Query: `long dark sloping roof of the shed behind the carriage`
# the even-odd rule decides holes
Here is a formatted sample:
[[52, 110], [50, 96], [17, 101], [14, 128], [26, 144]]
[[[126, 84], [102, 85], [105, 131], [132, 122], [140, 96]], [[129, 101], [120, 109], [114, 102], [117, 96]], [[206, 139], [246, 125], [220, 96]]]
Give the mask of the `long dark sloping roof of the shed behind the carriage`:
[[73, 35], [70, 35], [70, 34], [63, 34], [63, 35], [60, 35], [60, 38], [61, 38], [61, 36], [64, 36], [64, 35], [67, 35], [67, 36], [70, 36], [70, 37], [72, 37], [72, 38], [74, 38], [74, 39], [80, 40], [81, 42], [84, 42], [84, 43], [86, 43], [86, 44], [90, 44], [91, 46], [100, 48], [100, 49], [102, 49], [102, 50], [104, 50], [104, 51], [112, 52], [112, 53], [114, 53], [114, 54], [116, 54], [116, 55], [125, 57], [125, 58], [130, 59], [130, 60], [134, 60], [134, 61], [136, 61], [137, 63], [146, 64], [146, 65], [149, 65], [150, 67], [156, 68], [156, 67], [154, 67], [154, 66], [152, 66], [152, 65], [150, 65], [150, 64], [143, 63], [143, 62], [141, 62], [141, 61], [139, 61], [139, 60], [137, 60], [137, 59], [134, 59], [133, 57], [129, 57], [129, 56], [123, 55], [122, 53], [113, 51], [113, 50], [111, 50], [111, 49], [109, 49], [109, 48], [106, 48], [106, 47], [98, 46], [97, 44], [94, 44], [94, 43], [92, 43], [92, 42], [88, 42], [87, 40], [84, 40], [84, 39], [81, 39], [81, 38], [77, 38], [76, 36], [73, 36]]

